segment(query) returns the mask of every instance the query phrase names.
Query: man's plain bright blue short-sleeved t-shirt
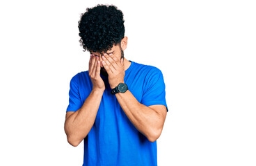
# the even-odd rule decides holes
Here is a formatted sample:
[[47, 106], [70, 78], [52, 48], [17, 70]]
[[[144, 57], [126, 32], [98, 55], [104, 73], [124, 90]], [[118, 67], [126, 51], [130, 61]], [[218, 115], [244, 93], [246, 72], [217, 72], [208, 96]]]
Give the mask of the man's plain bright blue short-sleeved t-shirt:
[[[125, 71], [125, 84], [134, 97], [145, 106], [166, 106], [163, 74], [154, 66], [131, 62]], [[97, 116], [88, 136], [83, 139], [83, 166], [157, 165], [157, 141], [150, 142], [127, 118], [115, 95], [111, 94], [108, 78], [101, 75], [105, 91]], [[70, 81], [67, 111], [77, 111], [93, 89], [88, 71], [74, 75]]]

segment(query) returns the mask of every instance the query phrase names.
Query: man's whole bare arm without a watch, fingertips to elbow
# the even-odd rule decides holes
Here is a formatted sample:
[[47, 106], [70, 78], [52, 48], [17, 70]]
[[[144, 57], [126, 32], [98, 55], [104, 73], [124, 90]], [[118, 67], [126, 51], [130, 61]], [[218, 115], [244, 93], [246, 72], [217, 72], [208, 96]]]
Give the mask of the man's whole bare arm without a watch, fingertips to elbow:
[[[99, 57], [90, 56], [89, 71], [90, 80], [93, 83], [93, 90], [90, 92], [86, 101], [77, 111], [67, 111], [64, 124], [67, 141], [70, 145], [76, 147], [86, 138], [90, 129], [93, 127], [99, 104], [102, 100], [102, 95], [105, 90], [105, 85], [100, 77]], [[71, 88], [71, 87], [70, 87]], [[77, 89], [72, 89], [78, 94]], [[79, 95], [76, 96], [79, 98]]]

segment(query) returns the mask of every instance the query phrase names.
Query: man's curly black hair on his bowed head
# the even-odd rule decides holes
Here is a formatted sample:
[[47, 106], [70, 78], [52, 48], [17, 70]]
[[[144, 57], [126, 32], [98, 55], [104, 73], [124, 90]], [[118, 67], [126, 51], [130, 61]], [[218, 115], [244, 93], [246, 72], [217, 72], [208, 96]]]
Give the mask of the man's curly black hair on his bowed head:
[[125, 37], [125, 20], [116, 6], [97, 5], [86, 8], [79, 21], [79, 42], [83, 51], [106, 53]]

